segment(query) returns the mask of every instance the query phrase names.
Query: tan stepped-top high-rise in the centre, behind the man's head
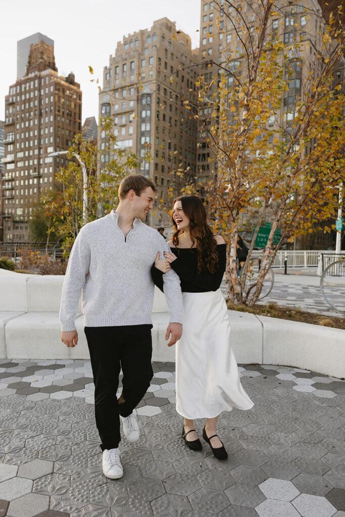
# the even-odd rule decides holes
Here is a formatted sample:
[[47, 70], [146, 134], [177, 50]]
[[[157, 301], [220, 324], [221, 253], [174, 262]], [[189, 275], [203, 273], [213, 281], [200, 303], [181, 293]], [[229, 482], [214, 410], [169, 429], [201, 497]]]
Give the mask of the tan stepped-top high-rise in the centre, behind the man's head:
[[[197, 122], [191, 114], [197, 113], [198, 61], [199, 50], [191, 49], [190, 37], [162, 18], [119, 41], [103, 71], [99, 116], [113, 118], [117, 145], [142, 158], [139, 171], [155, 180], [158, 196], [167, 201], [178, 178], [171, 171], [187, 170], [183, 181], [197, 171]], [[100, 133], [101, 150], [103, 137]], [[149, 162], [144, 159], [148, 148]], [[103, 168], [109, 159], [104, 156]], [[153, 225], [163, 217], [157, 213]]]

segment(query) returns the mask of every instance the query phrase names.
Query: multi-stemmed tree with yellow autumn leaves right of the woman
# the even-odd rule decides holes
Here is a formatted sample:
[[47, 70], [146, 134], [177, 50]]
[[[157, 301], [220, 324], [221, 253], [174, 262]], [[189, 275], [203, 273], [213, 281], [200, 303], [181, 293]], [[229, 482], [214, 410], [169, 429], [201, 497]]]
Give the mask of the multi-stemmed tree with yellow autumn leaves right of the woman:
[[[345, 176], [344, 33], [336, 14], [326, 25], [311, 0], [214, 4], [235, 46], [223, 49], [211, 84], [204, 76], [197, 83], [198, 117], [217, 162], [216, 177], [202, 188], [229, 244], [229, 298], [253, 305], [282, 243], [336, 217], [336, 187]], [[297, 20], [299, 26], [317, 23], [318, 34], [298, 31]], [[265, 221], [271, 231], [251, 281], [252, 250]], [[249, 226], [253, 238], [238, 276], [238, 232]], [[280, 239], [273, 245], [277, 229]]]

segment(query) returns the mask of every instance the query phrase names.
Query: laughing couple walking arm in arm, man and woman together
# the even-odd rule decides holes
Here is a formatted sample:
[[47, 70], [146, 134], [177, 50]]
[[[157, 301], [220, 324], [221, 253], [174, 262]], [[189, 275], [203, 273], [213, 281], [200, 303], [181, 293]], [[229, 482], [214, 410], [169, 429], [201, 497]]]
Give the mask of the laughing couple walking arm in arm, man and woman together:
[[[219, 286], [226, 245], [213, 236], [197, 196], [173, 204], [174, 234], [168, 244], [145, 220], [156, 186], [138, 174], [119, 186], [119, 204], [107, 216], [83, 226], [71, 250], [61, 301], [61, 339], [78, 342], [74, 323], [83, 291], [84, 330], [95, 384], [95, 417], [111, 479], [123, 476], [120, 416], [130, 442], [139, 439], [133, 409], [153, 377], [151, 311], [154, 283], [170, 312], [168, 346], [176, 344], [176, 410], [184, 417], [183, 439], [201, 450], [193, 419], [206, 418], [203, 438], [218, 459], [228, 455], [216, 432], [223, 410], [249, 409], [230, 348], [226, 302]], [[169, 247], [170, 245], [170, 247]], [[123, 388], [117, 399], [118, 376]]]

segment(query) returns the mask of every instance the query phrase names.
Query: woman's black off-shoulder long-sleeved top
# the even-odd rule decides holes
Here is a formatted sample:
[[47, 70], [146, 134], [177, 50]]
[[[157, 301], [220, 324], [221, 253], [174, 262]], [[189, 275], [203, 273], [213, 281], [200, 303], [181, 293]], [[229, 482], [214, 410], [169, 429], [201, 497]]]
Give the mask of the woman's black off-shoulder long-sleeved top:
[[[181, 280], [183, 293], [206, 293], [219, 289], [227, 262], [226, 244], [217, 245], [218, 269], [215, 273], [210, 273], [204, 268], [198, 273], [196, 248], [171, 248], [171, 251], [177, 256], [171, 263], [171, 267]], [[151, 276], [155, 285], [163, 292], [163, 273], [155, 267], [155, 264], [151, 268]]]

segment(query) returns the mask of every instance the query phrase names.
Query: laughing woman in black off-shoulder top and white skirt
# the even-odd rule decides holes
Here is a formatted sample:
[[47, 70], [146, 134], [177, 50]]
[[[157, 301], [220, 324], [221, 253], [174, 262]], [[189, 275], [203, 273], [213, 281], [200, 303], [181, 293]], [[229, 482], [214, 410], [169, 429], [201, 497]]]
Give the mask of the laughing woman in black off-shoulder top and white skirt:
[[173, 268], [181, 280], [184, 321], [176, 343], [176, 410], [184, 417], [182, 436], [190, 449], [201, 450], [193, 420], [205, 418], [202, 436], [215, 457], [228, 454], [216, 434], [219, 414], [233, 407], [250, 409], [253, 403], [239, 382], [230, 348], [227, 306], [220, 291], [226, 268], [226, 244], [214, 236], [199, 197], [184, 195], [173, 203], [174, 234], [171, 252], [152, 267], [162, 290], [162, 273]]

